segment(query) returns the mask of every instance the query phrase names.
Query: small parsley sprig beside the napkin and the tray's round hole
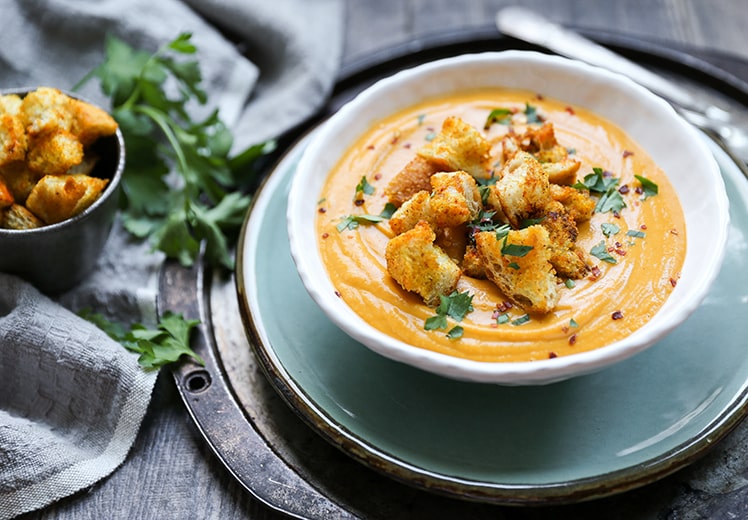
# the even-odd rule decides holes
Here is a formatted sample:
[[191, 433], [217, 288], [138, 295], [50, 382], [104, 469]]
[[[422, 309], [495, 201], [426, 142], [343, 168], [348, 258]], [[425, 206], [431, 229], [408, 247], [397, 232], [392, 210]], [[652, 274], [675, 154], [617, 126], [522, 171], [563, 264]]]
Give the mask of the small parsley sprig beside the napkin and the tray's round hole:
[[205, 364], [190, 348], [190, 334], [200, 323], [199, 320], [185, 320], [181, 314], [166, 312], [155, 329], [148, 329], [140, 323], [127, 329], [123, 324], [112, 322], [102, 314], [88, 309], [82, 310], [80, 315], [127, 350], [140, 354], [138, 364], [145, 369], [159, 369], [178, 361], [182, 356], [191, 357], [201, 365]]

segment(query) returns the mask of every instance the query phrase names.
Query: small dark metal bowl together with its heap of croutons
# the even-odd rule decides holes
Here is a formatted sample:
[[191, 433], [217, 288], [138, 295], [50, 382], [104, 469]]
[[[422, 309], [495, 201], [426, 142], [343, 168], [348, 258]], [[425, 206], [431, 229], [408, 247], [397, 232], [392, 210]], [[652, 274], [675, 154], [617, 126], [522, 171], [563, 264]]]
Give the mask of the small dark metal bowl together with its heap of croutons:
[[90, 274], [124, 161], [105, 110], [51, 87], [0, 90], [0, 271], [48, 294]]

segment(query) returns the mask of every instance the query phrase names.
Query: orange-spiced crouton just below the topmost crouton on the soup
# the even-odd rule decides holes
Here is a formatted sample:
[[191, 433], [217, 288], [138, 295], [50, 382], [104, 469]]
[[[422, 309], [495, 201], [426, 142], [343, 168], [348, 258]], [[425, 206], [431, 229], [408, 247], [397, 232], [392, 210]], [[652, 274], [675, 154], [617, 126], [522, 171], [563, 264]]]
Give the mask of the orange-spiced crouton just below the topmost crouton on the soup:
[[431, 176], [431, 212], [438, 227], [454, 227], [478, 217], [483, 207], [475, 179], [466, 172]]

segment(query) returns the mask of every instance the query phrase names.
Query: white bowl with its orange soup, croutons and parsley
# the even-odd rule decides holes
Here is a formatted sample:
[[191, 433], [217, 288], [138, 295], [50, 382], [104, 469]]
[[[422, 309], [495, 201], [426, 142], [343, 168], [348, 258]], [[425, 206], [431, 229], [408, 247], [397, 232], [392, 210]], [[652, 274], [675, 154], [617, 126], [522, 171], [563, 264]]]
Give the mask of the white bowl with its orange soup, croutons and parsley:
[[288, 202], [314, 301], [442, 376], [545, 384], [656, 345], [724, 256], [705, 139], [629, 79], [507, 51], [365, 90], [308, 140]]

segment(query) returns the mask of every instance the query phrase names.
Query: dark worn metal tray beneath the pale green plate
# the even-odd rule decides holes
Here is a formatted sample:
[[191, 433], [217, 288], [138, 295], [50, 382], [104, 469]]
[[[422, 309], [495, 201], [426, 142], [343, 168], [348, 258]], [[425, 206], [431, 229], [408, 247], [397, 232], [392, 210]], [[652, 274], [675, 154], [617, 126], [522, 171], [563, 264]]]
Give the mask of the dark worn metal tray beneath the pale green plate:
[[[748, 105], [748, 87], [741, 79], [748, 77], [748, 67], [742, 61], [692, 50], [667, 49], [653, 42], [626, 41], [615, 34], [588, 35], [662, 73], [686, 78], [695, 88], [708, 90], [710, 95], [731, 103]], [[283, 136], [279, 149], [281, 152], [294, 150], [302, 134], [379, 77], [440, 57], [509, 48], [533, 47], [497, 36], [494, 31], [487, 29], [411, 42], [369, 56], [342, 71], [336, 90], [319, 117]], [[268, 165], [267, 171], [275, 169], [276, 165], [272, 164]], [[279, 233], [285, 233], [284, 223], [279, 223]], [[299, 419], [291, 411], [291, 408], [299, 410], [298, 395], [288, 388], [287, 382], [279, 374], [267, 370], [268, 363], [262, 360], [261, 351], [260, 362], [252, 353], [250, 341], [255, 341], [255, 338], [248, 339], [245, 335], [242, 311], [232, 278], [222, 278], [201, 265], [185, 270], [167, 264], [161, 278], [160, 304], [163, 308], [182, 311], [202, 320], [203, 325], [193, 347], [206, 360], [206, 365], [199, 367], [185, 363], [176, 368], [174, 378], [177, 387], [199, 431], [216, 455], [249, 492], [270, 507], [302, 518], [447, 518], [458, 514], [483, 518], [497, 514], [495, 506], [440, 496], [459, 495], [459, 488], [456, 491], [430, 488], [420, 481], [403, 485], [382, 476], [380, 471], [389, 477], [397, 477], [390, 474], [386, 467], [378, 466], [376, 457], [364, 460], [366, 464], [360, 464], [366, 454], [361, 454], [356, 446], [342, 443], [339, 439], [345, 436], [328, 443], [318, 434], [318, 428], [309, 428], [304, 421], [314, 422], [308, 416]], [[710, 433], [708, 442], [702, 442], [698, 449], [694, 448], [680, 456], [677, 464], [669, 465], [667, 471], [648, 472], [642, 468], [640, 473], [647, 478], [632, 477], [625, 485], [611, 489], [593, 490], [588, 487], [586, 492], [580, 494], [572, 493], [570, 488], [568, 493], [558, 495], [560, 498], [556, 497], [557, 500], [533, 494], [529, 498], [518, 494], [518, 500], [510, 500], [510, 494], [504, 493], [499, 496], [500, 500], [496, 500], [494, 495], [492, 501], [535, 504], [575, 502], [656, 481], [702, 456], [707, 446], [727, 435], [744, 413], [742, 401], [738, 399], [729, 417], [719, 421], [719, 427]], [[301, 415], [304, 416], [303, 413]], [[333, 447], [333, 443], [341, 449]], [[356, 454], [359, 461], [346, 453]], [[676, 485], [672, 479], [664, 479], [656, 484], [663, 489]], [[419, 488], [432, 489], [438, 494]], [[616, 497], [597, 500], [595, 504], [600, 509], [566, 506], [565, 509], [553, 511], [557, 518], [562, 515], [585, 518], [584, 514], [590, 514], [592, 518], [595, 511], [599, 515], [610, 506], [610, 501], [615, 500]], [[633, 506], [629, 502], [626, 507]], [[512, 517], [510, 515], [515, 511], [501, 509], [506, 518]], [[533, 515], [548, 512], [547, 508], [532, 510]], [[525, 511], [523, 518], [527, 518], [527, 514]]]

